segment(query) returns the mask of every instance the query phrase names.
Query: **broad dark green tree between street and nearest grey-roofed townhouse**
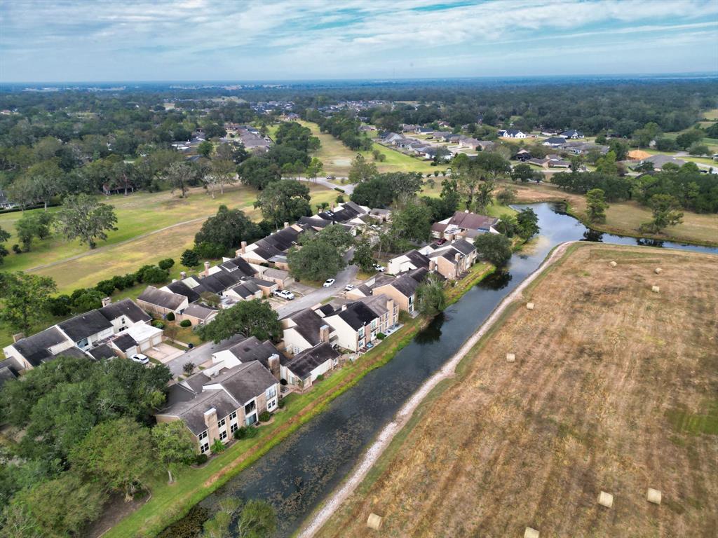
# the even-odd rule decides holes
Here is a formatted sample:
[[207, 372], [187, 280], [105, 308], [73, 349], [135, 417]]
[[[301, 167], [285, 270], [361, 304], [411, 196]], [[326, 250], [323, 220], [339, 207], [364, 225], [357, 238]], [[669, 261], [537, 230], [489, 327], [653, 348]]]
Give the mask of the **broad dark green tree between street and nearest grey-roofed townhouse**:
[[281, 324], [271, 304], [253, 299], [220, 310], [212, 323], [200, 326], [200, 334], [203, 339], [213, 340], [215, 344], [235, 334], [256, 336], [260, 340], [277, 339], [281, 334]]

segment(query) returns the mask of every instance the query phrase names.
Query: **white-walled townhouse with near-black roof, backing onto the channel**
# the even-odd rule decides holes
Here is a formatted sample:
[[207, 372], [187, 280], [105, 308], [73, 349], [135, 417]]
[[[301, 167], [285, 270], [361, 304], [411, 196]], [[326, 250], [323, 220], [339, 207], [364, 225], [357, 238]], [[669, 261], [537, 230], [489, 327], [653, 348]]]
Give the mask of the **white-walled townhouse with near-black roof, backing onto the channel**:
[[398, 323], [398, 306], [386, 295], [365, 297], [327, 313], [324, 319], [334, 329], [332, 343], [362, 351], [373, 347], [379, 333]]

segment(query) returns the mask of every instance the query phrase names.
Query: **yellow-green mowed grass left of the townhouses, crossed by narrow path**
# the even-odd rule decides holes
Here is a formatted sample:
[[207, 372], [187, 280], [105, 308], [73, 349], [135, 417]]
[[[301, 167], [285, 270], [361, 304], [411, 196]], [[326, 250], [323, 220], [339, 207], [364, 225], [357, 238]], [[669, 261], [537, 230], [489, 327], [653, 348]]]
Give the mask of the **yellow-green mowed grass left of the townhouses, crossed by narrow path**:
[[[312, 185], [310, 190], [313, 207], [320, 202], [333, 202], [337, 194], [321, 186]], [[169, 192], [103, 199], [116, 209], [118, 230], [109, 232], [108, 240], [98, 242], [97, 249], [89, 250], [78, 240], [67, 242], [55, 235], [48, 240], [36, 240], [29, 253], [9, 255], [2, 269], [51, 276], [58, 291], [67, 293], [162, 258], [174, 258], [179, 263], [180, 254], [192, 246], [202, 222], [215, 214], [220, 204], [242, 209], [254, 220], [260, 220], [261, 214], [253, 208], [256, 196], [255, 189], [236, 186], [225, 189], [215, 199], [201, 188], [192, 189], [185, 199]], [[20, 212], [0, 215], [0, 226], [13, 233], [7, 245], [17, 241], [14, 222], [21, 216]]]

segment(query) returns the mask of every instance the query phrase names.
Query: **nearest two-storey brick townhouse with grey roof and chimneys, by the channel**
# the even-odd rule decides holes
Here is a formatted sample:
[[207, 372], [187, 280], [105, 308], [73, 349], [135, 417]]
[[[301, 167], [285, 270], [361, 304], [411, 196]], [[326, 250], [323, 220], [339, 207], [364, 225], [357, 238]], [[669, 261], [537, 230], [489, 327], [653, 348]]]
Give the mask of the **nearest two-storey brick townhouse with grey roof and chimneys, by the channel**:
[[258, 421], [279, 405], [279, 382], [261, 362], [210, 368], [170, 387], [167, 405], [155, 414], [158, 423], [182, 420], [204, 454], [215, 440], [228, 443], [233, 433]]

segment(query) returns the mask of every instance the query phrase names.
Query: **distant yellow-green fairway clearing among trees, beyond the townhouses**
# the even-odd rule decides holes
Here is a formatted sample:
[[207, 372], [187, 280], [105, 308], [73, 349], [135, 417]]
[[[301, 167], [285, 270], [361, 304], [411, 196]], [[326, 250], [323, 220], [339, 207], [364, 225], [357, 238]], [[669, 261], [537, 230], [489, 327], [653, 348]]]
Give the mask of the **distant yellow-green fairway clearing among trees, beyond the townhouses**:
[[330, 176], [345, 177], [349, 174], [349, 169], [352, 164], [352, 160], [356, 154], [362, 154], [368, 161], [376, 162], [377, 168], [380, 172], [408, 172], [416, 171], [423, 174], [429, 174], [437, 169], [443, 169], [445, 167], [432, 166], [429, 161], [421, 161], [415, 159], [406, 154], [402, 154], [399, 151], [381, 146], [381, 144], [375, 143], [374, 149], [380, 151], [383, 155], [386, 155], [385, 161], [374, 161], [374, 157], [371, 151], [352, 151], [345, 146], [341, 141], [337, 140], [330, 134], [320, 132], [319, 126], [316, 123], [309, 121], [299, 121], [303, 126], [309, 127], [312, 130], [312, 134], [317, 136], [322, 142], [322, 147], [319, 151], [314, 152], [314, 156], [320, 159], [324, 163], [325, 174]]

